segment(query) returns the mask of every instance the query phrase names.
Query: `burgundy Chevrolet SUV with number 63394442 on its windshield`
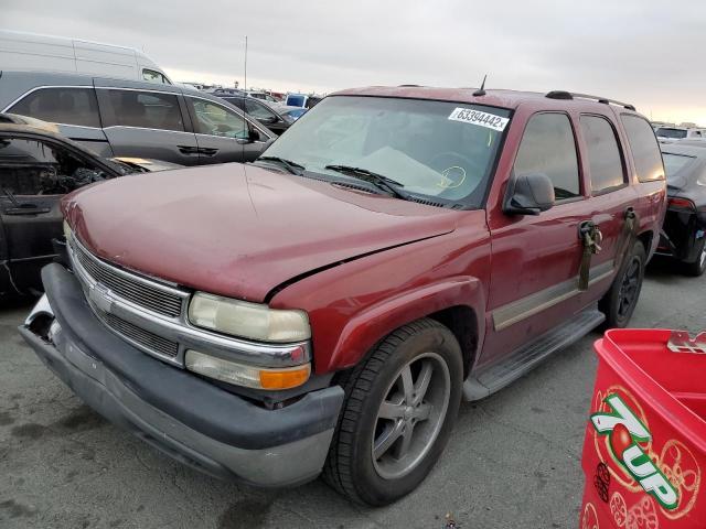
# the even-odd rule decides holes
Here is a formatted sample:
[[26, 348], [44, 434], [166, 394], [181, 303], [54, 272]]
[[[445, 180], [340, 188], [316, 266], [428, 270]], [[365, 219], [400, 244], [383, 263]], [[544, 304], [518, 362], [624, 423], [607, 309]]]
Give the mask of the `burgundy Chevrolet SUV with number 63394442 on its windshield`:
[[628, 324], [664, 212], [630, 105], [345, 90], [254, 164], [68, 195], [64, 262], [20, 331], [184, 463], [261, 486], [323, 473], [383, 505], [429, 473], [462, 398]]

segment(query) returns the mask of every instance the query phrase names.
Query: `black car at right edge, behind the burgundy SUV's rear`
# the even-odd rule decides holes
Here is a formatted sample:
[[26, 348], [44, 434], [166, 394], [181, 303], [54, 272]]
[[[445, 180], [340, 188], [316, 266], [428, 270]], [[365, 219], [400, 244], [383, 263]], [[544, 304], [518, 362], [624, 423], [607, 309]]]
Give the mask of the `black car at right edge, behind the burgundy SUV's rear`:
[[659, 253], [671, 256], [686, 273], [706, 271], [706, 143], [663, 143], [668, 206]]

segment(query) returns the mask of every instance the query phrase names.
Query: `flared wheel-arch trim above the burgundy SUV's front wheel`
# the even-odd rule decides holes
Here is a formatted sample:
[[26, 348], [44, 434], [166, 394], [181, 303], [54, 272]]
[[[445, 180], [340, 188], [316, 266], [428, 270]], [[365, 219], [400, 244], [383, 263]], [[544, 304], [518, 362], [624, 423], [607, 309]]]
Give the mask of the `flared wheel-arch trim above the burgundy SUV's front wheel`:
[[360, 312], [343, 327], [329, 365], [322, 367], [328, 371], [354, 366], [396, 328], [453, 306], [467, 306], [475, 313], [473, 331], [480, 348], [485, 296], [477, 278], [460, 277], [404, 292]]

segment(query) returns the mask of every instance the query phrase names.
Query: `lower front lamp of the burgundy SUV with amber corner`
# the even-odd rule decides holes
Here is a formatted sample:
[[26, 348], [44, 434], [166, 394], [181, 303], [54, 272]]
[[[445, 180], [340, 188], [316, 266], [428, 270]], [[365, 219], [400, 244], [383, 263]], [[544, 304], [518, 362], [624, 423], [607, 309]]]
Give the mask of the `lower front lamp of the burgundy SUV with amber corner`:
[[296, 388], [304, 384], [311, 375], [310, 364], [279, 369], [255, 367], [192, 349], [186, 350], [184, 364], [186, 369], [204, 377], [256, 389]]

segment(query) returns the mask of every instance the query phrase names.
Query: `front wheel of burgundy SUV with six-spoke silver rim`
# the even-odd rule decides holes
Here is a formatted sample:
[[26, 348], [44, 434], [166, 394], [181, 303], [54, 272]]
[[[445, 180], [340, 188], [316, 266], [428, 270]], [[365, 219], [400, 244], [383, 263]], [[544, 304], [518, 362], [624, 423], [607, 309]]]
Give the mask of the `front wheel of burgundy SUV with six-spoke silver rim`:
[[388, 335], [345, 381], [324, 481], [359, 504], [409, 494], [446, 446], [462, 379], [461, 348], [440, 323], [424, 319]]

